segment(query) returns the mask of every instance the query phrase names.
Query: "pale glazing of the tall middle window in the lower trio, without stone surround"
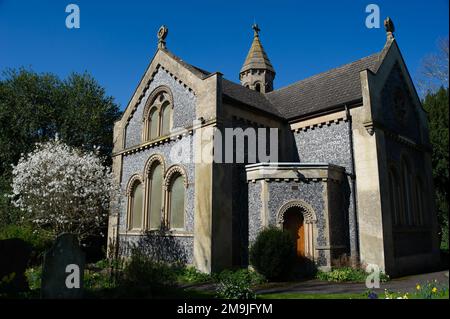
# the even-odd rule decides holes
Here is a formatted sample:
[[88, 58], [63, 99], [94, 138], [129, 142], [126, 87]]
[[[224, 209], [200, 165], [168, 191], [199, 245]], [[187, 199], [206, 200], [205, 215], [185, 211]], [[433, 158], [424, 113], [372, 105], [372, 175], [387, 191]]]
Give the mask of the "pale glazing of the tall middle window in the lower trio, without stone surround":
[[162, 211], [162, 165], [157, 163], [150, 170], [148, 176], [148, 225], [150, 229], [161, 227]]

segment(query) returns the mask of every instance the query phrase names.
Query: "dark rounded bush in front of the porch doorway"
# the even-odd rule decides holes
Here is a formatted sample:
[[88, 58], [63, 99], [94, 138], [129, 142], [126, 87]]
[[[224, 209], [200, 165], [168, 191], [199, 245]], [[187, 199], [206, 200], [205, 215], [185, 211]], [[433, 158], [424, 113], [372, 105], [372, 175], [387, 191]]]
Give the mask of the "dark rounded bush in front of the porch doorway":
[[275, 227], [261, 231], [250, 248], [251, 265], [269, 280], [286, 278], [295, 261], [289, 233]]

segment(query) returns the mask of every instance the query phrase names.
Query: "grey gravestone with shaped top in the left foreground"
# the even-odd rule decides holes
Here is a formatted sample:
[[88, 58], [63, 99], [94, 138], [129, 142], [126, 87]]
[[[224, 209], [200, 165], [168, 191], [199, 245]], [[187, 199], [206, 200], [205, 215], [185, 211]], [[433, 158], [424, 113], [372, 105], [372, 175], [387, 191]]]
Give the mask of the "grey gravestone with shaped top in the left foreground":
[[85, 254], [73, 234], [59, 235], [45, 253], [41, 297], [78, 299], [83, 297]]

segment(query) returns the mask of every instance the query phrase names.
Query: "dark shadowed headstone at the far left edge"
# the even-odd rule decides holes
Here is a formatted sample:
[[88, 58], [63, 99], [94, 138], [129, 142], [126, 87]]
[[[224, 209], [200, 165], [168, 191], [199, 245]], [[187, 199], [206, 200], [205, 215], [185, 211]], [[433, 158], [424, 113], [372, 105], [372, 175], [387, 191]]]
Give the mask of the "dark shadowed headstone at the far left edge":
[[25, 270], [31, 257], [31, 247], [22, 239], [0, 240], [0, 292], [29, 290]]

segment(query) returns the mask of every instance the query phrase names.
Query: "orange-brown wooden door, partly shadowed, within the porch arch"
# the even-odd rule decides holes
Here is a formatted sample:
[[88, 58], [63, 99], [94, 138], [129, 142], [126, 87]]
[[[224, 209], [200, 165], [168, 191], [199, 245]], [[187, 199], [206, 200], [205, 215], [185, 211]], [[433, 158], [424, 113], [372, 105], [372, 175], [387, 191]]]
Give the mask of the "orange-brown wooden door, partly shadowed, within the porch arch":
[[291, 207], [284, 213], [283, 229], [291, 234], [298, 258], [306, 256], [303, 219], [303, 214], [299, 207]]

